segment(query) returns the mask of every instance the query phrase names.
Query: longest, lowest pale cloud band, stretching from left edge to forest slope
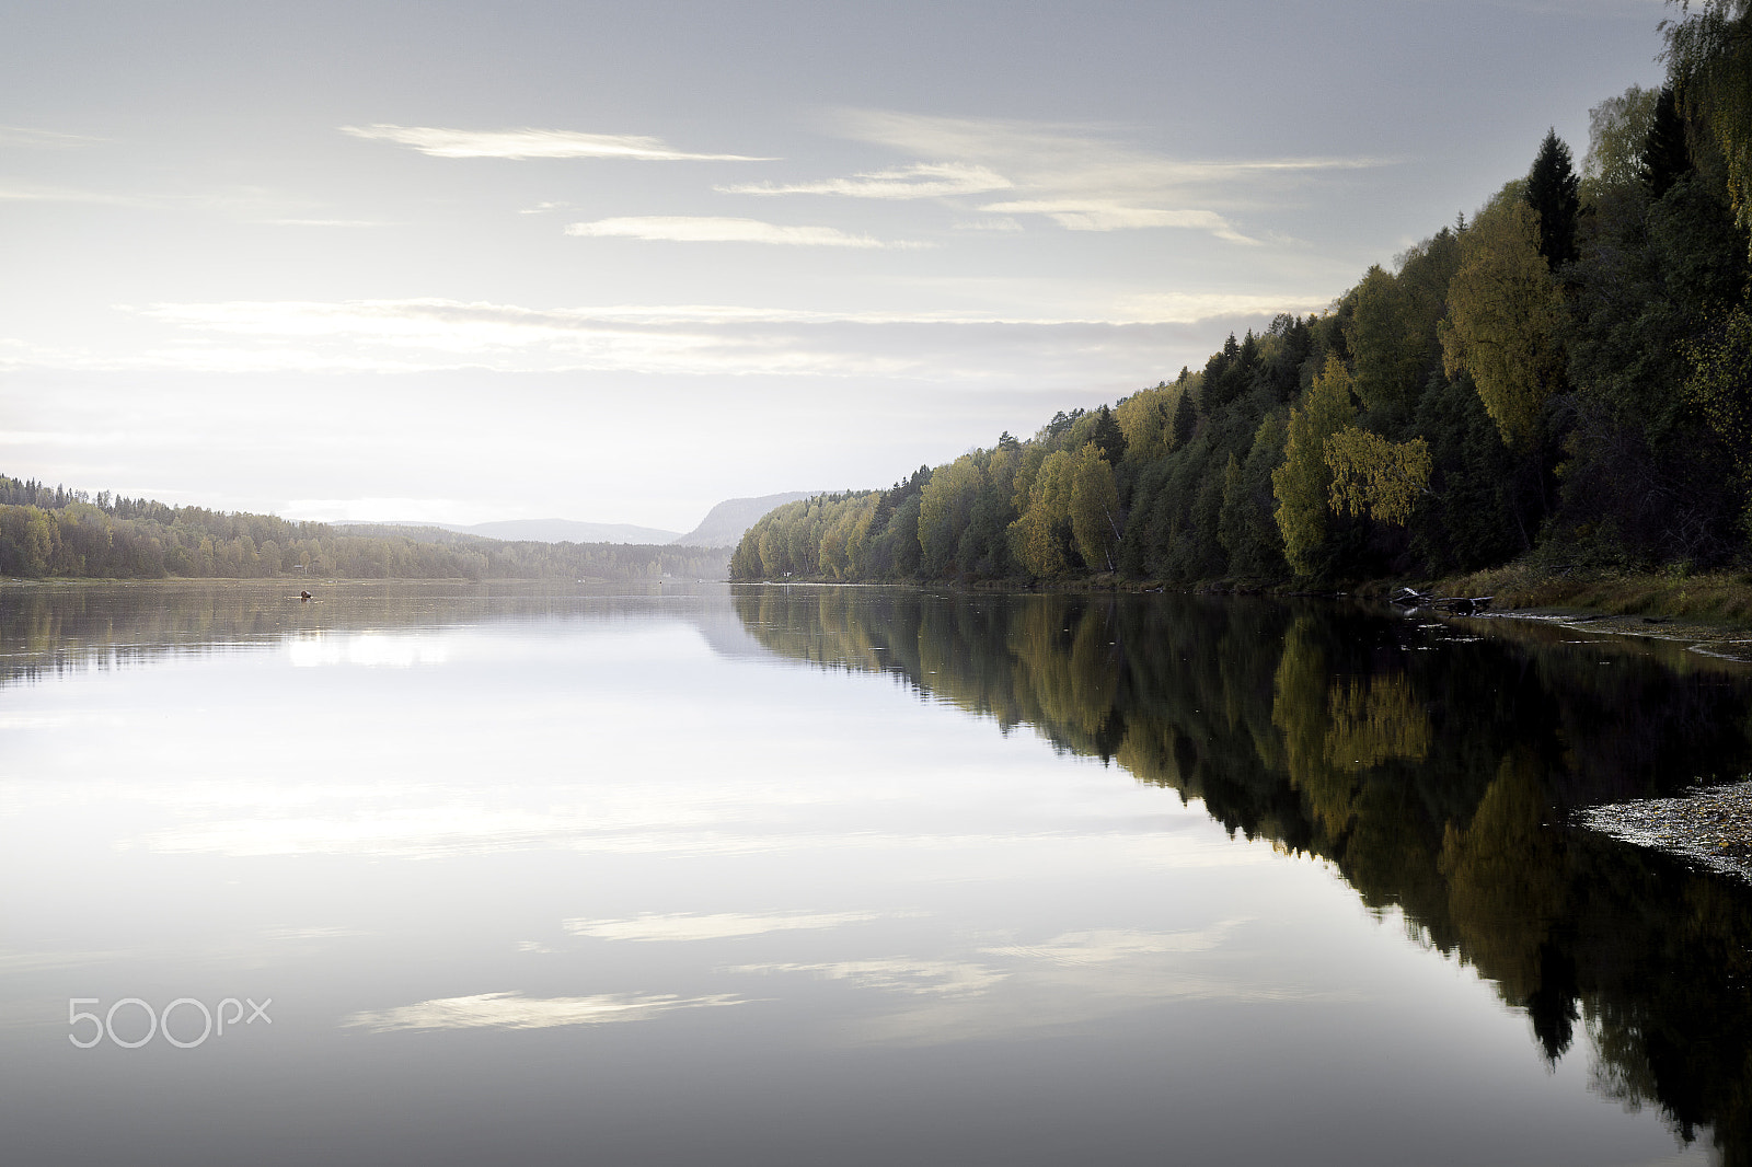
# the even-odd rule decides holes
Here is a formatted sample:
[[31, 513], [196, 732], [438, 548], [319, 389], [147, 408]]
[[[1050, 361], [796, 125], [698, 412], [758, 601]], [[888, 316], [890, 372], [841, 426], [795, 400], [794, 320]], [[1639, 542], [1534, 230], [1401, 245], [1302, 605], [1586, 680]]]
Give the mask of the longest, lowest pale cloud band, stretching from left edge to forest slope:
[[[967, 289], [950, 289], [965, 298]], [[123, 308], [163, 326], [131, 352], [46, 347], [0, 336], [0, 370], [212, 373], [420, 373], [436, 370], [661, 375], [906, 377], [972, 385], [1118, 384], [1186, 363], [1205, 322], [1258, 326], [1323, 308], [1291, 293], [1149, 293], [1011, 280], [1013, 314], [974, 310], [597, 305], [531, 308], [457, 300], [231, 300]], [[137, 329], [135, 329], [137, 331]], [[1130, 370], [1128, 373], [1125, 370]], [[16, 438], [18, 435], [14, 435]]]

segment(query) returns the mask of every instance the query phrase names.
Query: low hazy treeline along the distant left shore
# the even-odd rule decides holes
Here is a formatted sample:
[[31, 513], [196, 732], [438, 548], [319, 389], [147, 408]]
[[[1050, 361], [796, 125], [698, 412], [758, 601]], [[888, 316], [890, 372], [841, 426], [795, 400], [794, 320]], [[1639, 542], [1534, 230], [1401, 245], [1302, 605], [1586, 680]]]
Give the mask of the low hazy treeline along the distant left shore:
[[538, 543], [440, 527], [298, 522], [0, 475], [0, 575], [21, 578], [722, 578], [725, 550]]

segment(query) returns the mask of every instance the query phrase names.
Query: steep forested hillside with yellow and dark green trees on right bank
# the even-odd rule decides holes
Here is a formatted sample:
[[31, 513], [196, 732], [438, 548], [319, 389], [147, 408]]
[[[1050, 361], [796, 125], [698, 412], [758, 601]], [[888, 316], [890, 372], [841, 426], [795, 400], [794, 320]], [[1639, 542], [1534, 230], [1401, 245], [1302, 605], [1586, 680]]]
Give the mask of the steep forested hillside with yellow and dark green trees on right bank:
[[1752, 566], [1752, 0], [1330, 310], [757, 522], [731, 576], [1337, 584]]

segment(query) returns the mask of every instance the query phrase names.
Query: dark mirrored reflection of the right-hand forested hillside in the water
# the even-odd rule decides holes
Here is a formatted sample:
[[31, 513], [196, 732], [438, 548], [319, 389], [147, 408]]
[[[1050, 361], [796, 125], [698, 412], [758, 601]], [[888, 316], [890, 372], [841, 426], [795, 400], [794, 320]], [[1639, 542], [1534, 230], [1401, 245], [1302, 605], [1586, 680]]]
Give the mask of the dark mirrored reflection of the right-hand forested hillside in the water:
[[1738, 778], [1752, 682], [1593, 641], [1177, 596], [746, 587], [767, 648], [895, 673], [1333, 862], [1475, 965], [1545, 1057], [1752, 1163], [1752, 894], [1565, 829], [1587, 803]]

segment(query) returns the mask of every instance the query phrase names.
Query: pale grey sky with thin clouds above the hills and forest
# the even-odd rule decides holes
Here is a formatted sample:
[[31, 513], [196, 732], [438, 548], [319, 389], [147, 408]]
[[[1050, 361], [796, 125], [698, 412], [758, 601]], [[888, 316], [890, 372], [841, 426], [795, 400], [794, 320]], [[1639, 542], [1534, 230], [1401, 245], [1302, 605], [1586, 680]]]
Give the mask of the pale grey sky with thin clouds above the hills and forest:
[[692, 529], [1116, 401], [1659, 84], [1661, 0], [4, 2], [0, 473]]

